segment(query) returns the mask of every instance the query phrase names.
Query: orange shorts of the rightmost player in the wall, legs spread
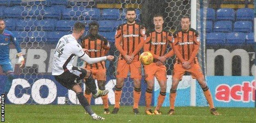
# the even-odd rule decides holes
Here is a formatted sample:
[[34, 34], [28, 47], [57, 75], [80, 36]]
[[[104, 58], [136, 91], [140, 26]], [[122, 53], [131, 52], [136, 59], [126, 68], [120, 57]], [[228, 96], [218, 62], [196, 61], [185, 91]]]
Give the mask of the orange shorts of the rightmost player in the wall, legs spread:
[[172, 73], [172, 77], [182, 80], [182, 76], [186, 71], [191, 74], [193, 79], [199, 79], [204, 77], [199, 64], [194, 64], [190, 69], [186, 70], [182, 67], [182, 64], [177, 63], [174, 64], [174, 71]]

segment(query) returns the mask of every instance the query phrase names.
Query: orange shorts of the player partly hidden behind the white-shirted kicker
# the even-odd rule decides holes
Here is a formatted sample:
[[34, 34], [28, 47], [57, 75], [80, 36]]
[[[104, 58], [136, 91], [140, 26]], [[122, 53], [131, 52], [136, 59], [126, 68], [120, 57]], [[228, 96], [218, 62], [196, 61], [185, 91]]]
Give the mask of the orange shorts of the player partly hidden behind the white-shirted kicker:
[[106, 81], [106, 69], [96, 69], [96, 68], [91, 68], [91, 69], [88, 69], [87, 70], [90, 70], [91, 73], [92, 73], [92, 77], [95, 79], [95, 80], [103, 80], [103, 81]]

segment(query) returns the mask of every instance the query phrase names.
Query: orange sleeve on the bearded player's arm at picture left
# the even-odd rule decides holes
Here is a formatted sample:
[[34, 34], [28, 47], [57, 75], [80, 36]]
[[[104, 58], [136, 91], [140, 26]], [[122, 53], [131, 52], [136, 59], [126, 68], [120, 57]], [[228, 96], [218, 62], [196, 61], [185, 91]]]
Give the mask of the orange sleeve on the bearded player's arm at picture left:
[[117, 32], [115, 35], [115, 46], [117, 48], [117, 50], [121, 53], [121, 55], [125, 56], [126, 52], [123, 50], [123, 48], [121, 47], [121, 39], [122, 39], [122, 31], [121, 31], [121, 27], [119, 26], [117, 28]]

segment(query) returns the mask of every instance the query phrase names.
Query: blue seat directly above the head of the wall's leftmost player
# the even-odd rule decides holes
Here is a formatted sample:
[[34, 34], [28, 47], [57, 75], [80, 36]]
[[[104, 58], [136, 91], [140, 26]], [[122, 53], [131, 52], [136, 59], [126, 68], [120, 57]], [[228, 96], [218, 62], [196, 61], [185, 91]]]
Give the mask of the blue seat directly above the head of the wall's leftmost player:
[[83, 20], [99, 20], [101, 16], [100, 9], [92, 8], [92, 9], [85, 9], [82, 11], [82, 19]]

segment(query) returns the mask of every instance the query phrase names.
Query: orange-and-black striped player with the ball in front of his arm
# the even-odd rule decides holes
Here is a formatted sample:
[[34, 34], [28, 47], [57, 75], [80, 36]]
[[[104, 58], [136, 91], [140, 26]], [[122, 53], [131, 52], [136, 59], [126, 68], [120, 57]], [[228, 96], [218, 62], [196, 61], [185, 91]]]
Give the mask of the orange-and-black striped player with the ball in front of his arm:
[[[168, 43], [171, 45], [171, 34], [163, 30], [163, 16], [160, 14], [156, 14], [153, 17], [153, 22], [155, 25], [155, 29], [148, 31], [146, 33], [146, 41], [144, 44], [144, 52], [149, 51], [153, 55], [153, 63], [149, 65], [144, 65], [145, 71], [145, 80], [147, 83], [146, 89], [146, 114], [162, 114], [160, 112], [160, 108], [165, 100], [166, 96], [166, 82], [167, 82], [167, 71], [165, 67], [165, 61], [167, 58], [174, 55], [174, 51], [171, 50], [167, 54], [165, 54], [165, 50], [167, 49]], [[154, 77], [157, 78], [158, 83], [160, 85], [160, 94], [158, 96], [158, 103], [155, 107], [154, 112], [151, 110], [151, 99], [152, 92], [154, 87]]]

